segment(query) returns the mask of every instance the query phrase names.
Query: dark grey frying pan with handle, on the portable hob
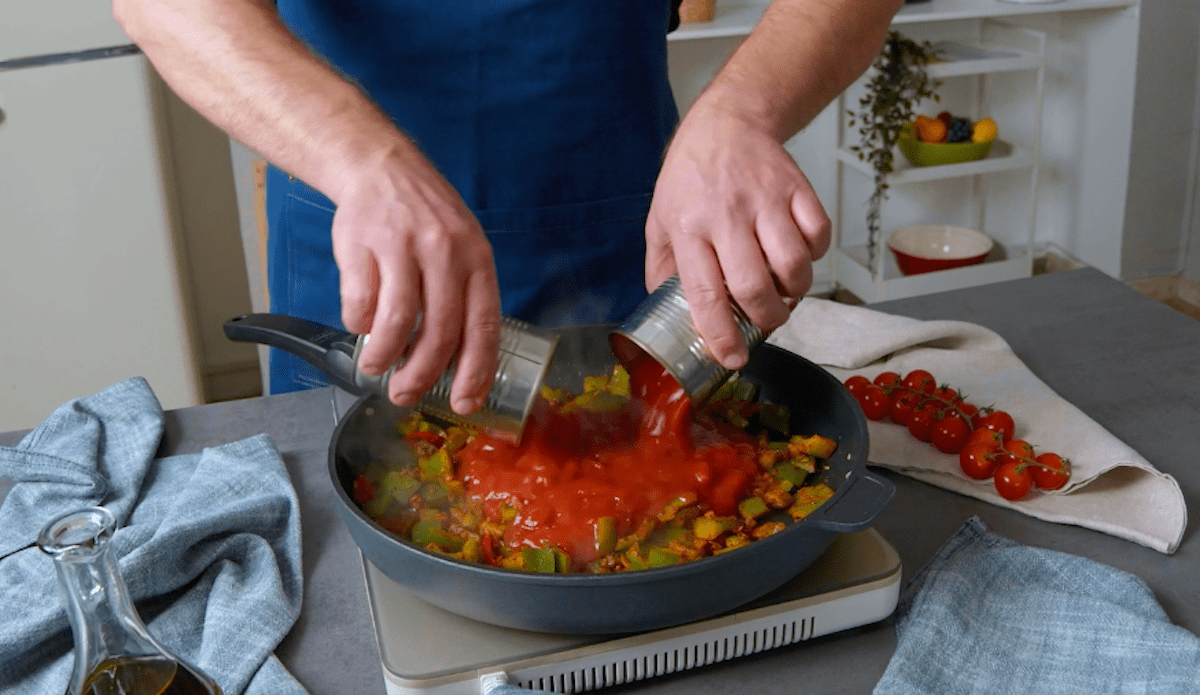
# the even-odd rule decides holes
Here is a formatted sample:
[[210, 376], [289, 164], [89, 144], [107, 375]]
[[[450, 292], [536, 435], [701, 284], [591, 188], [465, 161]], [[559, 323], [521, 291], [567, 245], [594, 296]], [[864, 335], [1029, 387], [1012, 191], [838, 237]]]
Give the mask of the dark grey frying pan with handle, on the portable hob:
[[[583, 376], [616, 363], [612, 326], [562, 329], [548, 385], [582, 390]], [[330, 332], [332, 331], [332, 332]], [[233, 340], [288, 349], [330, 373], [348, 360], [338, 353], [354, 336], [275, 314], [251, 314], [226, 324]], [[313, 341], [312, 338], [317, 338]], [[318, 344], [319, 343], [319, 344]], [[868, 528], [890, 503], [889, 480], [866, 468], [866, 420], [850, 393], [814, 363], [761, 344], [739, 372], [758, 387], [758, 399], [786, 403], [791, 430], [838, 442], [818, 480], [834, 495], [808, 517], [736, 551], [664, 568], [614, 574], [541, 574], [492, 568], [428, 552], [372, 522], [350, 497], [354, 479], [372, 460], [412, 456], [394, 423], [407, 409], [364, 395], [347, 411], [329, 445], [329, 474], [338, 511], [364, 557], [412, 594], [461, 616], [521, 630], [622, 634], [654, 630], [727, 612], [782, 586], [842, 533]], [[786, 521], [790, 521], [785, 517]]]

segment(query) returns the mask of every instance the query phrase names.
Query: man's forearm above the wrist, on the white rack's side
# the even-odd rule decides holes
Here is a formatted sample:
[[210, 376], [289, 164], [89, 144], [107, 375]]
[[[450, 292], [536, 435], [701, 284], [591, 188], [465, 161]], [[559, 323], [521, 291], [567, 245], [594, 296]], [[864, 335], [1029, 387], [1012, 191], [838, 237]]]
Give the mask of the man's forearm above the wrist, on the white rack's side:
[[697, 103], [746, 119], [779, 142], [862, 74], [902, 0], [774, 0]]

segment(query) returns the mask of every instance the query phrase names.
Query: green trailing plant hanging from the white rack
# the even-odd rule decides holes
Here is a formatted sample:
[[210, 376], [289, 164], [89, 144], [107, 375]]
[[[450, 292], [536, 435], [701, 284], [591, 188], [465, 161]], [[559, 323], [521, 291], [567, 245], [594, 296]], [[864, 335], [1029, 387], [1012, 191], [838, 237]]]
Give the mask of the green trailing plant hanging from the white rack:
[[930, 79], [925, 67], [935, 56], [928, 41], [917, 42], [889, 31], [883, 48], [871, 65], [866, 94], [858, 110], [850, 112], [850, 127], [858, 127], [859, 142], [850, 150], [869, 163], [875, 173], [875, 190], [866, 200], [868, 268], [875, 271], [880, 238], [880, 211], [887, 198], [888, 174], [894, 170], [895, 145], [905, 126], [917, 116], [917, 104], [932, 98], [940, 82]]

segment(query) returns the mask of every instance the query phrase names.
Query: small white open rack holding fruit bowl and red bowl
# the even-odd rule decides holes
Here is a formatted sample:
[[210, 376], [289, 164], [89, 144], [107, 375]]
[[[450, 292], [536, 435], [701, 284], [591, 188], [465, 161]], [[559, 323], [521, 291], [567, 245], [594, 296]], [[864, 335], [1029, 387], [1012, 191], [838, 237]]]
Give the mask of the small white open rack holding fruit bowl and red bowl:
[[[1028, 72], [1033, 78], [1032, 86], [1032, 127], [1020, 132], [1019, 128], [1010, 139], [1004, 139], [1006, 125], [1000, 122], [1002, 137], [992, 145], [988, 157], [958, 164], [916, 167], [898, 151], [895, 170], [888, 175], [888, 196], [881, 208], [880, 239], [876, 240], [875, 253], [869, 248], [866, 229], [866, 197], [872, 190], [874, 170], [858, 158], [850, 148], [857, 132], [847, 126], [847, 118], [839, 119], [838, 128], [838, 200], [834, 215], [834, 282], [854, 293], [865, 301], [898, 299], [930, 292], [956, 289], [973, 284], [998, 282], [1025, 277], [1033, 270], [1034, 228], [1038, 200], [1038, 169], [1042, 139], [1042, 103], [1044, 91], [1044, 56], [1046, 36], [1044, 32], [1010, 26], [1002, 22], [984, 20], [979, 24], [978, 36], [970, 42], [935, 43], [943, 61], [929, 66], [931, 78], [946, 86], [952, 80], [965, 82], [959, 85], [966, 98], [954, 106], [926, 102], [918, 112], [929, 115], [948, 109], [955, 115], [966, 115], [972, 120], [991, 115], [992, 108], [1012, 95], [1003, 90], [989, 90], [989, 80], [995, 76], [1013, 72]], [[865, 79], [865, 78], [864, 78]], [[839, 112], [846, 114], [852, 96], [839, 97]], [[1030, 101], [1027, 97], [1025, 101]], [[857, 107], [857, 102], [853, 102]], [[857, 142], [857, 140], [856, 140]], [[988, 179], [996, 174], [1022, 172], [1027, 175], [1027, 188], [1024, 200], [1014, 205], [1008, 200], [1004, 205], [1004, 226], [998, 228], [996, 218], [1001, 215], [988, 215], [991, 192]], [[848, 181], [848, 178], [858, 181]], [[960, 192], [958, 204], [944, 204], [937, 191], [922, 192], [920, 187], [946, 188], [952, 182]], [[857, 184], [857, 188], [852, 188]], [[917, 190], [908, 196], [908, 220], [902, 223], [889, 216], [894, 198], [906, 194], [906, 190]], [[1012, 185], [1008, 186], [1012, 188]], [[851, 191], [854, 192], [851, 192]], [[859, 193], [856, 196], [856, 193]], [[1009, 198], [1012, 198], [1009, 191]], [[916, 217], [914, 217], [916, 216]], [[1012, 228], [1014, 217], [1024, 218], [1019, 230]], [[896, 227], [908, 223], [956, 224], [979, 229], [996, 241], [996, 247], [988, 259], [979, 265], [956, 268], [905, 276], [900, 272], [887, 250], [888, 234]]]

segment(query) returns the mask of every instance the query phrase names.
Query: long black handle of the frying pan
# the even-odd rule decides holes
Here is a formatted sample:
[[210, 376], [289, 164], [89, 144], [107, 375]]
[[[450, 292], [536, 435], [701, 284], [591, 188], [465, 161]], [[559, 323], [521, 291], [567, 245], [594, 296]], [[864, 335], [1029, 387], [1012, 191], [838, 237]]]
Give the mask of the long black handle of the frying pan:
[[246, 313], [230, 318], [224, 323], [224, 332], [232, 341], [257, 342], [292, 353], [352, 394], [368, 393], [354, 383], [358, 336], [352, 332], [281, 313]]

